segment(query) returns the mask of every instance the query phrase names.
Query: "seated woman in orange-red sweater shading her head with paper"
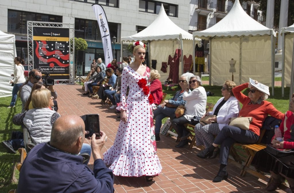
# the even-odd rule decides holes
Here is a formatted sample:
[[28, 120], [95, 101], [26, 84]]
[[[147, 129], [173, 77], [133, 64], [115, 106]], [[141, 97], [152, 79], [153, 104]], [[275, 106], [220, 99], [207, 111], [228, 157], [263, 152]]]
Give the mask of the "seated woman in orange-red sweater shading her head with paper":
[[[245, 88], [249, 88], [248, 96], [242, 93]], [[269, 89], [261, 89], [258, 86], [258, 81], [255, 81], [255, 84], [252, 85], [250, 83], [241, 84], [233, 88], [232, 91], [236, 99], [243, 104], [239, 112], [239, 117], [252, 117], [253, 121], [250, 123], [249, 130], [234, 126], [223, 127], [214, 139], [213, 144], [197, 154], [198, 157], [206, 158], [212, 155], [214, 149], [220, 145], [220, 168], [213, 182], [220, 182], [228, 178], [228, 156], [233, 143], [256, 143], [259, 139], [260, 128], [268, 115], [277, 119], [283, 119], [284, 116], [272, 103], [265, 101], [268, 95], [270, 95]]]

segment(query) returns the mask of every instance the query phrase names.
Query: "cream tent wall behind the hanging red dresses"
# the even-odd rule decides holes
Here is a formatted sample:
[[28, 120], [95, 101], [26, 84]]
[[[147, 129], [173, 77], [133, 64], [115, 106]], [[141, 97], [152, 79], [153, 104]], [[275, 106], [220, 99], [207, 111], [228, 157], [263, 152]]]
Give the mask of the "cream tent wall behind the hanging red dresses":
[[[198, 41], [197, 41], [198, 42]], [[160, 81], [164, 83], [169, 75], [170, 66], [167, 67], [167, 72], [161, 71], [161, 63], [168, 62], [168, 56], [175, 54], [176, 49], [180, 48], [180, 41], [175, 40], [160, 40], [150, 42], [151, 60], [156, 60], [156, 70], [160, 74]], [[183, 40], [183, 54], [191, 54], [193, 52], [193, 42], [191, 40]], [[150, 61], [151, 66], [151, 61]], [[153, 69], [153, 68], [151, 68]], [[179, 76], [182, 74], [181, 61], [179, 64]], [[177, 82], [175, 82], [177, 84]]]

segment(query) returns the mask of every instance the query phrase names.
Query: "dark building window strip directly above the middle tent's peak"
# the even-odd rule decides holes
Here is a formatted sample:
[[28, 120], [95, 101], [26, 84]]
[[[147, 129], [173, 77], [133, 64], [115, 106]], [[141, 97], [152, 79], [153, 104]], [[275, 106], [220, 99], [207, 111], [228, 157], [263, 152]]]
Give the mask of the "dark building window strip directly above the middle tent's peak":
[[158, 14], [163, 4], [164, 10], [168, 16], [178, 16], [178, 6], [174, 4], [163, 3], [159, 1], [139, 0], [139, 11]]

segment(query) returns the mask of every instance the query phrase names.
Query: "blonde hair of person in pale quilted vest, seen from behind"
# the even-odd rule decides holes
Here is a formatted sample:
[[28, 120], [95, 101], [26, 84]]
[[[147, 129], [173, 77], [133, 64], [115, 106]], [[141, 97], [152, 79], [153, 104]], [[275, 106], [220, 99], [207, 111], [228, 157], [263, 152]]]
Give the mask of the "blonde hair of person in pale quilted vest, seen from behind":
[[51, 100], [51, 92], [48, 89], [36, 89], [31, 96], [34, 108], [47, 108]]

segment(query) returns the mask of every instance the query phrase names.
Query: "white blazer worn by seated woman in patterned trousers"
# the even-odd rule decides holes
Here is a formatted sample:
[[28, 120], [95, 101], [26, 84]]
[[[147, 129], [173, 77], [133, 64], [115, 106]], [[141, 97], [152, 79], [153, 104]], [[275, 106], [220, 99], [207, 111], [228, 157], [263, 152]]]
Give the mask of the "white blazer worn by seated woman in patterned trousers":
[[[223, 101], [225, 97], [221, 97], [218, 102], [213, 107], [213, 110], [209, 112], [210, 115], [213, 115], [216, 107], [220, 102]], [[235, 98], [235, 96], [231, 96], [222, 107], [218, 111], [218, 115], [216, 116], [216, 120], [218, 122], [219, 129], [223, 129], [224, 126], [228, 125], [230, 122], [230, 118], [237, 117], [240, 111], [240, 104], [239, 101]]]

